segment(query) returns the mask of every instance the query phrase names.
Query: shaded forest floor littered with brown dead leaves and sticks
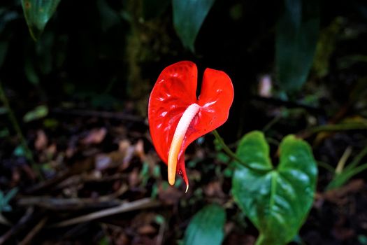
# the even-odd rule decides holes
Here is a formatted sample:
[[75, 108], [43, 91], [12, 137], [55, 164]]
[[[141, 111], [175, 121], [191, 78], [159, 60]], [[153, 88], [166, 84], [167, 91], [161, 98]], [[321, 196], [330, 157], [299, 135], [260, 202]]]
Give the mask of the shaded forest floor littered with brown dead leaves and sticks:
[[[15, 195], [3, 204], [11, 210], [0, 216], [0, 244], [176, 244], [192, 216], [212, 202], [226, 209], [224, 244], [256, 240], [256, 228], [231, 197], [229, 159], [215, 150], [211, 134], [187, 150], [185, 194], [183, 181], [168, 185], [145, 118], [129, 110], [52, 109], [22, 130], [36, 163], [15, 148], [17, 137], [1, 140], [2, 194]], [[361, 147], [360, 135], [332, 132], [309, 141], [318, 144], [317, 160], [332, 162], [345, 142]], [[292, 244], [367, 244], [365, 176], [326, 192], [332, 175], [319, 167], [315, 202]]]

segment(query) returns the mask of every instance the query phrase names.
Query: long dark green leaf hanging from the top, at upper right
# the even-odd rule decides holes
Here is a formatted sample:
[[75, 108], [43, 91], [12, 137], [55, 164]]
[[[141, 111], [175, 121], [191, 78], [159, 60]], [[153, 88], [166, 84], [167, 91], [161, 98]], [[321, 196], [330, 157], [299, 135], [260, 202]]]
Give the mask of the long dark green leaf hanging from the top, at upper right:
[[283, 90], [299, 90], [315, 55], [319, 34], [319, 1], [284, 0], [276, 27], [275, 63]]

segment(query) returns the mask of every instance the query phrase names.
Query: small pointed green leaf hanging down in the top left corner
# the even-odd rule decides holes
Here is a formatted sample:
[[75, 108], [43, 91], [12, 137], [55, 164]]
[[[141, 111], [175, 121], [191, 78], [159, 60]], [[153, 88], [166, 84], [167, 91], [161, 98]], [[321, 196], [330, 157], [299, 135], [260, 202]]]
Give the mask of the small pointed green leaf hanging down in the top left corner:
[[22, 0], [24, 17], [35, 41], [41, 36], [59, 2], [60, 0]]

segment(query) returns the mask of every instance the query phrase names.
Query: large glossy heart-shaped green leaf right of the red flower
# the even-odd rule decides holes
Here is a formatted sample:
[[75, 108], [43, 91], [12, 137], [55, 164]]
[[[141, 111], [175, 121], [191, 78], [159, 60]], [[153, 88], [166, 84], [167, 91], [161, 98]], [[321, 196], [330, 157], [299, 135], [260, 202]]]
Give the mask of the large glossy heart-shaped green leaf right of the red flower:
[[280, 163], [273, 167], [264, 134], [250, 132], [241, 139], [236, 152], [252, 169], [236, 165], [232, 193], [259, 230], [258, 245], [291, 241], [305, 221], [315, 194], [317, 165], [310, 146], [289, 135], [279, 149]]

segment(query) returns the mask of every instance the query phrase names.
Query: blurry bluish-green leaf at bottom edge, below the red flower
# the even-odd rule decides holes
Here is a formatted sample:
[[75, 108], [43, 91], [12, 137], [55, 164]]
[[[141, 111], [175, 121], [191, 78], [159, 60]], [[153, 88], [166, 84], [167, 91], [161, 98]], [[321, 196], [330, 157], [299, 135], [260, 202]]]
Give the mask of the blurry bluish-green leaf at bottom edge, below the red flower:
[[217, 204], [210, 204], [194, 215], [185, 231], [183, 244], [220, 245], [224, 239], [226, 213]]

